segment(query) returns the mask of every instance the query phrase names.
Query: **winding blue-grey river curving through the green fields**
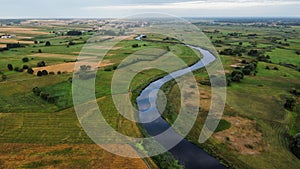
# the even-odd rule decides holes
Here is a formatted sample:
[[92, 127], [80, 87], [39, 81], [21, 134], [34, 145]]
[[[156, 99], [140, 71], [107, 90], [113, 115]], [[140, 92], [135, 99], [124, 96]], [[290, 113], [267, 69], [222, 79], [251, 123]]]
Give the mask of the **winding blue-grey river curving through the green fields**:
[[[216, 57], [208, 50], [202, 49], [200, 47], [189, 46], [190, 48], [198, 50], [203, 58], [196, 64], [175, 71], [159, 80], [152, 82], [148, 87], [146, 87], [141, 95], [137, 98], [137, 105], [139, 108], [139, 118], [141, 121], [147, 120], [147, 118], [157, 116], [157, 93], [164, 84], [171, 81], [173, 78], [183, 76], [189, 72], [204, 68], [206, 65], [214, 62]], [[155, 138], [158, 143], [160, 143], [165, 148], [172, 140], [180, 139], [181, 141], [175, 147], [173, 147], [169, 152], [180, 162], [185, 165], [187, 169], [226, 169], [217, 159], [207, 154], [200, 147], [184, 139], [181, 135], [170, 128], [170, 124], [166, 122], [163, 118], [158, 117], [156, 120], [150, 123], [143, 123], [143, 127], [151, 136], [156, 136], [163, 133], [164, 131], [170, 129], [166, 137]]]

